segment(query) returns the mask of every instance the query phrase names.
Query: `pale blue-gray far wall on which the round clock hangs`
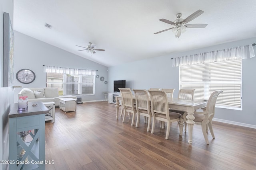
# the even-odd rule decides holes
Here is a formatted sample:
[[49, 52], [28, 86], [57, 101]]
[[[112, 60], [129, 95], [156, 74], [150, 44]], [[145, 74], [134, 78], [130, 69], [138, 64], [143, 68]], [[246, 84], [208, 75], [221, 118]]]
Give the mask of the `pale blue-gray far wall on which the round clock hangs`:
[[[30, 84], [22, 84], [14, 80], [16, 86], [24, 87], [46, 87], [46, 73], [43, 72], [43, 65], [58, 66], [67, 68], [80, 68], [98, 70], [96, 74], [103, 76], [108, 81], [107, 67], [95, 63], [88, 59], [64, 51], [58, 47], [39, 41], [20, 32], [14, 31], [15, 36], [15, 64], [14, 72], [22, 68], [28, 68], [36, 74], [36, 79]], [[85, 51], [83, 51], [86, 53]], [[93, 57], [93, 56], [92, 56]], [[102, 92], [107, 91], [108, 85], [95, 78], [95, 95], [78, 96], [82, 101], [103, 100], [105, 96]], [[21, 88], [14, 91], [14, 102], [18, 100], [18, 92]]]

